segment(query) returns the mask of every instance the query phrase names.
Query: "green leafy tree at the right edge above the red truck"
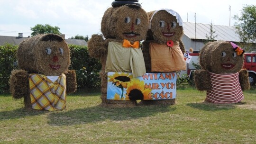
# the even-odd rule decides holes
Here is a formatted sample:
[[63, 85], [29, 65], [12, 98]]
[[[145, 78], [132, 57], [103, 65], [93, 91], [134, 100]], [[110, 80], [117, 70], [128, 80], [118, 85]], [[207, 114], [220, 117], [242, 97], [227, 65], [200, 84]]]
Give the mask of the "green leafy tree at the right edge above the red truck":
[[253, 50], [256, 48], [256, 5], [245, 5], [241, 11], [240, 17], [238, 14], [233, 17], [238, 20], [234, 26], [241, 41], [247, 43], [246, 50]]

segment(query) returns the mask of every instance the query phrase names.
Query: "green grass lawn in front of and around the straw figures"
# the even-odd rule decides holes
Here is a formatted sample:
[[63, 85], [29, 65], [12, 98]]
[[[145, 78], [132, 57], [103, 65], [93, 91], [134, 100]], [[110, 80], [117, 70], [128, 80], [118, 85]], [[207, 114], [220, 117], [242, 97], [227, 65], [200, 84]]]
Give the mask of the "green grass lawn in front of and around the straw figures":
[[49, 112], [1, 94], [0, 144], [256, 144], [256, 90], [239, 104], [210, 104], [189, 88], [175, 105], [135, 108], [101, 107], [100, 95], [78, 91]]

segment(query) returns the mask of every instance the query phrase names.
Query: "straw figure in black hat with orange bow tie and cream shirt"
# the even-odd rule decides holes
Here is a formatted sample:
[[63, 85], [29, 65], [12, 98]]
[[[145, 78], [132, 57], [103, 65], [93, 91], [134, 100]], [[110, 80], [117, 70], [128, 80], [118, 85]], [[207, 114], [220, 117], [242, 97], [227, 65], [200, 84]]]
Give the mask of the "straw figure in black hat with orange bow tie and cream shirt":
[[[107, 99], [107, 72], [132, 72], [133, 78], [146, 73], [139, 41], [146, 38], [148, 16], [138, 0], [115, 0], [101, 21], [102, 35], [92, 35], [88, 42], [91, 57], [101, 60], [101, 99], [103, 106], [129, 107], [137, 104], [136, 96], [130, 100]], [[125, 83], [128, 76], [113, 80]], [[116, 84], [116, 82], [113, 82]], [[122, 88], [122, 85], [119, 85]]]

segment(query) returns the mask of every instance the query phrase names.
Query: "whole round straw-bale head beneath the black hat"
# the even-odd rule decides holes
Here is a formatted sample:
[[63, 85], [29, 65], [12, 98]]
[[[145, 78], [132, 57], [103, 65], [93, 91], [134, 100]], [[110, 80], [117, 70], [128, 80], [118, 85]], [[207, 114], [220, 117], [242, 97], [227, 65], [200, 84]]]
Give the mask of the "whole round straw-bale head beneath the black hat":
[[101, 32], [105, 38], [129, 41], [141, 41], [148, 30], [146, 11], [135, 4], [109, 8], [101, 21]]

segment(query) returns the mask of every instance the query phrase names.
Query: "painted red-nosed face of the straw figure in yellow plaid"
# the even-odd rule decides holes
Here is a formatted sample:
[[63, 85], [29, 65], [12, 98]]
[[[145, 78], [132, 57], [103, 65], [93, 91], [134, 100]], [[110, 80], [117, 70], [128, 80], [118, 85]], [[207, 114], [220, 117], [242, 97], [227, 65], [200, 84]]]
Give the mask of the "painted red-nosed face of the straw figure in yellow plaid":
[[40, 58], [37, 58], [38, 72], [47, 76], [58, 76], [68, 69], [70, 55], [64, 41], [42, 41], [40, 45], [44, 46], [38, 52], [41, 55]]

